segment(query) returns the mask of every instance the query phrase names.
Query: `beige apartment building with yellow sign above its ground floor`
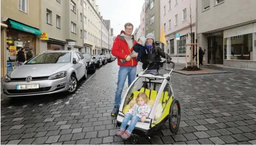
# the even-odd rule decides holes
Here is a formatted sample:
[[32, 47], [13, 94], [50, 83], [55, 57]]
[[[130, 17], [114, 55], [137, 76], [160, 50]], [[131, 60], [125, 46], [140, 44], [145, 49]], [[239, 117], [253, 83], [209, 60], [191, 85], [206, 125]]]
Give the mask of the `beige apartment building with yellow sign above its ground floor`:
[[40, 51], [71, 50], [83, 52], [82, 1], [41, 0]]

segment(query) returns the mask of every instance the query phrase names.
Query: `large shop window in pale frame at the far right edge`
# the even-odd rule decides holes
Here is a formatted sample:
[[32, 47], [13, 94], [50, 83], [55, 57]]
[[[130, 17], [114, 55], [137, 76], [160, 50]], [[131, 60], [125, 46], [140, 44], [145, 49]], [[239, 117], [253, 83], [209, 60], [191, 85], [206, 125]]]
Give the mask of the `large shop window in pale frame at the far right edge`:
[[224, 65], [256, 69], [256, 23], [224, 31]]

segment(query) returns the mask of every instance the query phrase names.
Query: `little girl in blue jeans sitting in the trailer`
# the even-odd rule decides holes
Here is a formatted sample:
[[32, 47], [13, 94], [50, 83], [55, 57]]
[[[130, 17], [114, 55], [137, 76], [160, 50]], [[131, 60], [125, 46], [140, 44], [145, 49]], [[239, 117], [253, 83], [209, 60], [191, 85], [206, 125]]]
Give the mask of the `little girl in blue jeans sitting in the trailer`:
[[[150, 114], [151, 107], [147, 104], [147, 102], [147, 95], [143, 92], [139, 93], [136, 98], [136, 104], [134, 104], [133, 107], [127, 113], [125, 113], [121, 128], [116, 133], [116, 135], [122, 137], [124, 140], [128, 139], [131, 136], [131, 133], [137, 122], [139, 120], [141, 120], [141, 122], [144, 122], [146, 120], [146, 117], [148, 117], [148, 115]], [[131, 124], [125, 131], [126, 125], [128, 124], [129, 120], [131, 120]]]

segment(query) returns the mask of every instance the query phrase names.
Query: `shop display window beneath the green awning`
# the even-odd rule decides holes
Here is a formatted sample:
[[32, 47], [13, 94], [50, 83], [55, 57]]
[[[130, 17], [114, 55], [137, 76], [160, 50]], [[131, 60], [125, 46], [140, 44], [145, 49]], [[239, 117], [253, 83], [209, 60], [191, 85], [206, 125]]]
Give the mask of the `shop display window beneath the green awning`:
[[25, 48], [25, 60], [27, 59], [27, 54], [30, 52], [34, 55], [34, 43], [34, 35], [9, 30], [6, 31], [6, 62], [9, 63], [8, 66], [11, 66], [10, 68], [7, 68], [7, 73], [19, 65], [19, 62], [17, 62], [17, 54], [22, 48]]

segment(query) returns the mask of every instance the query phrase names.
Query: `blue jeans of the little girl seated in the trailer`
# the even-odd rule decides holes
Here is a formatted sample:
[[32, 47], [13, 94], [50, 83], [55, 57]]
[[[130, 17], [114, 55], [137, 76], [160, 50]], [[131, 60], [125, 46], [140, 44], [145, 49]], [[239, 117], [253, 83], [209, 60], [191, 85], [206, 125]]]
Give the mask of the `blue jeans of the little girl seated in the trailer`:
[[140, 120], [140, 118], [137, 115], [132, 115], [131, 113], [126, 114], [120, 129], [123, 129], [125, 131], [126, 125], [128, 124], [130, 119], [131, 119], [131, 124], [129, 125], [126, 131], [129, 133], [132, 133], [137, 122]]

